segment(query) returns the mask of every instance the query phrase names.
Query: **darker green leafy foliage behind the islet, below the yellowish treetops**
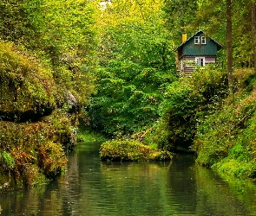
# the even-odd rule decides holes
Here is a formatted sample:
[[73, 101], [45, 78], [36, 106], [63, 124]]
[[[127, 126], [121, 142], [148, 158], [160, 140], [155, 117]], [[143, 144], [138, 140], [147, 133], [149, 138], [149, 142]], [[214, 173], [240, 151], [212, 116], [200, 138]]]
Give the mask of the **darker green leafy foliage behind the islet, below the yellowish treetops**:
[[159, 118], [158, 106], [172, 74], [131, 61], [112, 60], [98, 73], [91, 125], [108, 136], [129, 135]]

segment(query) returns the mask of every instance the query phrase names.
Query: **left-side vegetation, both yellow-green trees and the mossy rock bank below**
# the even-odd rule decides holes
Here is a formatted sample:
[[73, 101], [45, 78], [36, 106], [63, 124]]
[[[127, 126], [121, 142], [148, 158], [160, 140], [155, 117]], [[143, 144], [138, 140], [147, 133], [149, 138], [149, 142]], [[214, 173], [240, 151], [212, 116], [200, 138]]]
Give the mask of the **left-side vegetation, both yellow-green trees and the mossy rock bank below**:
[[95, 91], [98, 9], [41, 0], [2, 1], [0, 9], [0, 189], [9, 190], [65, 170]]

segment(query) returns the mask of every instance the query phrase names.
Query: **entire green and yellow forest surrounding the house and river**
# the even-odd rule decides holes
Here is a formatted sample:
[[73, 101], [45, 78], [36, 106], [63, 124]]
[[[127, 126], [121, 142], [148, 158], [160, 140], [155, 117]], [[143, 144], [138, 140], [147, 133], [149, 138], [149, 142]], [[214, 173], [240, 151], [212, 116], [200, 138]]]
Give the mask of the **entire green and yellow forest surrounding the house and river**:
[[[255, 6], [3, 0], [0, 188], [64, 171], [82, 125], [110, 145], [192, 152], [202, 166], [255, 178]], [[221, 44], [217, 63], [180, 77], [181, 35], [200, 29]]]

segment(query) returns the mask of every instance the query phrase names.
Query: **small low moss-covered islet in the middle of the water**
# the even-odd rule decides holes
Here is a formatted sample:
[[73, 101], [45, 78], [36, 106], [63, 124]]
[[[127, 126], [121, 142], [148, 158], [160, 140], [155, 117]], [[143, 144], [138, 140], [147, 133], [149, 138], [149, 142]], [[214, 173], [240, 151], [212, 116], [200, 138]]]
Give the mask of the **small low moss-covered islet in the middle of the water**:
[[110, 161], [165, 161], [171, 160], [172, 154], [154, 149], [138, 141], [108, 141], [100, 149], [102, 160]]

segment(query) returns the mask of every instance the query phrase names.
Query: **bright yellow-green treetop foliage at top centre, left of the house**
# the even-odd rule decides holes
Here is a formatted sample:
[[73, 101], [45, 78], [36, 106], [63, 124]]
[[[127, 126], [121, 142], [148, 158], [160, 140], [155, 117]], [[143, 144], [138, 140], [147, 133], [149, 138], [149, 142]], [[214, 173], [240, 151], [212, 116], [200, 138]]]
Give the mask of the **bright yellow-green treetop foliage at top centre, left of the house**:
[[[102, 12], [101, 64], [122, 57], [141, 65], [169, 68], [173, 41], [164, 28], [161, 1], [115, 1]], [[107, 40], [106, 40], [107, 39]]]

